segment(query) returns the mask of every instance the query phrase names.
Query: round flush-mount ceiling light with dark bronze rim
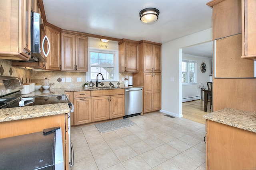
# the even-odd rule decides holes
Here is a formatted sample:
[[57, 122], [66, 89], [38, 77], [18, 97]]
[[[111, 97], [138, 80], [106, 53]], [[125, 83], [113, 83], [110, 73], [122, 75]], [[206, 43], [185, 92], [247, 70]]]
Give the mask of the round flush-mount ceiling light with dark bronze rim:
[[146, 8], [140, 11], [140, 21], [152, 23], [158, 20], [159, 10], [156, 8]]

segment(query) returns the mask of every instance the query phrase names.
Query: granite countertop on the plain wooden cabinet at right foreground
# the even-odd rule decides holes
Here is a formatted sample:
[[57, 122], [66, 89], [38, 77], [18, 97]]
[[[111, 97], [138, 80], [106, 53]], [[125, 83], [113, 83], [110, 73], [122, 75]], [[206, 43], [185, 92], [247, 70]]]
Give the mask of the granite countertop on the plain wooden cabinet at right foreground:
[[256, 113], [237, 109], [222, 109], [203, 115], [204, 119], [256, 133]]

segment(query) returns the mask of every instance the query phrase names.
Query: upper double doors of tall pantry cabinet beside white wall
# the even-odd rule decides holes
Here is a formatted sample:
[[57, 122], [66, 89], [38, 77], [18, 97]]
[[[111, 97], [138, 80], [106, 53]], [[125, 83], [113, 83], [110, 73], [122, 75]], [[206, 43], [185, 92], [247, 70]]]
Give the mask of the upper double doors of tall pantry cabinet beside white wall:
[[142, 43], [140, 45], [142, 47], [140, 54], [143, 55], [143, 71], [161, 72], [161, 44], [144, 40], [140, 41], [140, 43]]

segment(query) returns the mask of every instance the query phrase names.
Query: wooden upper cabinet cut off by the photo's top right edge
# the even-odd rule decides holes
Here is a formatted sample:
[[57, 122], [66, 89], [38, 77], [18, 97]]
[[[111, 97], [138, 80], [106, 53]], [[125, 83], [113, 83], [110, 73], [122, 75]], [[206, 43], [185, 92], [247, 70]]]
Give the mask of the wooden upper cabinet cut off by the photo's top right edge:
[[242, 58], [256, 60], [256, 1], [242, 0]]

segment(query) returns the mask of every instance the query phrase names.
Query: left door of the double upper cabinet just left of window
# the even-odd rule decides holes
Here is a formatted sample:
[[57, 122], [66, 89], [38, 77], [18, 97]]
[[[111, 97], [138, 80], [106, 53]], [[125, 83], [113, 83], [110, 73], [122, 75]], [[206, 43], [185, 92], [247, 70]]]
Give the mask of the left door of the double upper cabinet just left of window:
[[61, 33], [61, 70], [75, 70], [75, 35]]

